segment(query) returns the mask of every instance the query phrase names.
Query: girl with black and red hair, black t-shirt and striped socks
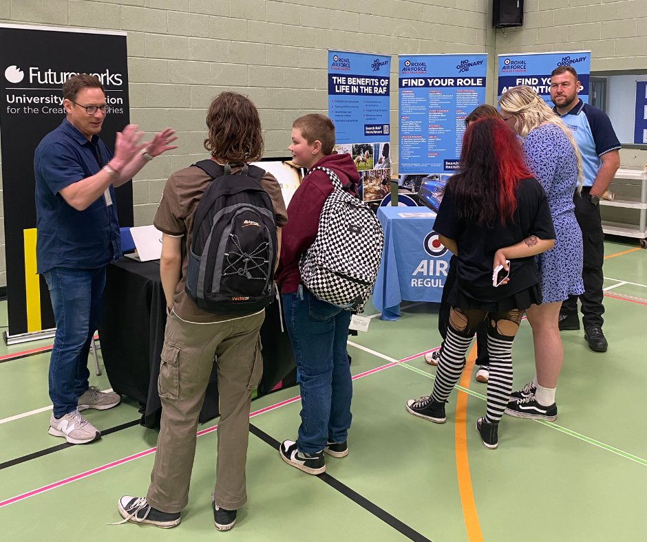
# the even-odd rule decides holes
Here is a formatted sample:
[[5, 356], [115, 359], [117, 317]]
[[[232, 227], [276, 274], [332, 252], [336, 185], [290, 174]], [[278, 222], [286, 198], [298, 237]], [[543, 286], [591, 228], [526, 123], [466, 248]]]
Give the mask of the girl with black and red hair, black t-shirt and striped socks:
[[[460, 162], [434, 224], [458, 259], [458, 280], [447, 296], [452, 307], [447, 337], [432, 393], [408, 400], [407, 411], [435, 423], [447, 420], [447, 397], [465, 367], [476, 328], [487, 319], [487, 411], [476, 420], [476, 431], [487, 448], [496, 448], [512, 391], [512, 342], [524, 310], [542, 302], [534, 256], [553, 247], [555, 230], [546, 193], [502, 120], [469, 124]], [[499, 265], [509, 277], [494, 280]]]

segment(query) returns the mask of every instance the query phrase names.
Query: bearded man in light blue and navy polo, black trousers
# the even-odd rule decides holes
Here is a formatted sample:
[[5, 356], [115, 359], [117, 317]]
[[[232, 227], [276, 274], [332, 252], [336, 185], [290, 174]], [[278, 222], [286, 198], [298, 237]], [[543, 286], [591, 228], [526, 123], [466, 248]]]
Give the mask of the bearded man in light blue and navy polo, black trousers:
[[[585, 104], [577, 98], [580, 81], [571, 66], [560, 66], [551, 73], [551, 100], [553, 110], [571, 129], [582, 155], [584, 186], [582, 193], [575, 192], [575, 217], [582, 229], [584, 244], [584, 294], [582, 323], [588, 347], [595, 352], [606, 352], [608, 343], [602, 333], [602, 263], [604, 263], [604, 233], [600, 220], [600, 198], [613, 180], [620, 165], [620, 142], [611, 120], [604, 111]], [[562, 303], [560, 329], [580, 329], [577, 316], [577, 296]]]

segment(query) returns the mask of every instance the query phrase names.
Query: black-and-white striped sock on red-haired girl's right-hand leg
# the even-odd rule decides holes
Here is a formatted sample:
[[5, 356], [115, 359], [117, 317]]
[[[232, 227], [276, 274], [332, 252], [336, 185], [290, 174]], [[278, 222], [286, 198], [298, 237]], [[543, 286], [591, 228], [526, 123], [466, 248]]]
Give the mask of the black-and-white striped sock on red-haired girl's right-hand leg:
[[512, 393], [512, 341], [513, 337], [487, 336], [490, 373], [485, 421], [491, 424], [499, 422]]

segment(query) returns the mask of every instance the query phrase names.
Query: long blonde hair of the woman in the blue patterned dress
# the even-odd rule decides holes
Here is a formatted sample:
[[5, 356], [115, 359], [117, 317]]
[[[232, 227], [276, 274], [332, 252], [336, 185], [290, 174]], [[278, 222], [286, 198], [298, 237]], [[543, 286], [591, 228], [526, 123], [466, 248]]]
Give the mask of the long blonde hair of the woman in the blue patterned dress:
[[[515, 127], [519, 135], [525, 138], [528, 133], [537, 128], [540, 124], [553, 124], [564, 132], [575, 151], [577, 158], [577, 191], [582, 191], [582, 156], [580, 149], [577, 148], [575, 138], [571, 130], [566, 127], [562, 119], [553, 111], [531, 87], [512, 87], [507, 89], [499, 100], [499, 107], [505, 113], [511, 113], [516, 116]], [[517, 123], [521, 122], [521, 127]]]

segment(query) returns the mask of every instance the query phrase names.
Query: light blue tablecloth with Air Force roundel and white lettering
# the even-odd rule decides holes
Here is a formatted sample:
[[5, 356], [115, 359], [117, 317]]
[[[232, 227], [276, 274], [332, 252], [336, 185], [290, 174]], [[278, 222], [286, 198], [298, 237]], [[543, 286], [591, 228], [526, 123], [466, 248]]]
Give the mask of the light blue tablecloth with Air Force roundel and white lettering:
[[434, 232], [436, 213], [426, 207], [380, 207], [377, 217], [384, 250], [372, 301], [380, 318], [399, 318], [403, 300], [441, 301], [452, 253]]

